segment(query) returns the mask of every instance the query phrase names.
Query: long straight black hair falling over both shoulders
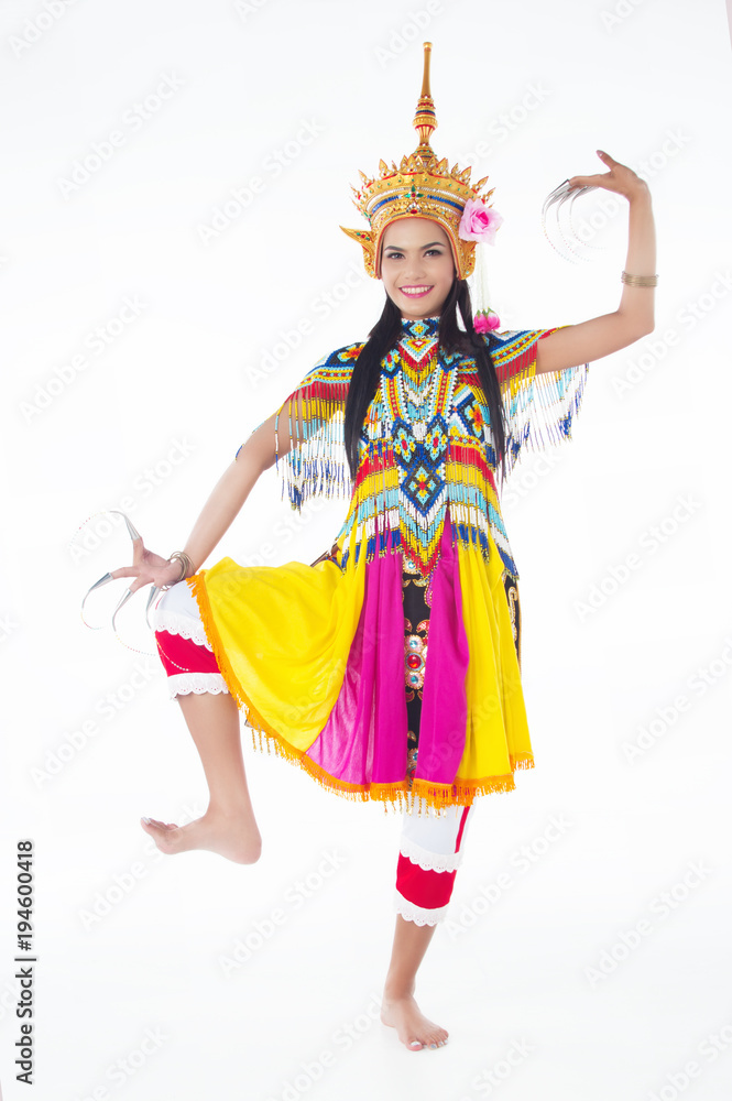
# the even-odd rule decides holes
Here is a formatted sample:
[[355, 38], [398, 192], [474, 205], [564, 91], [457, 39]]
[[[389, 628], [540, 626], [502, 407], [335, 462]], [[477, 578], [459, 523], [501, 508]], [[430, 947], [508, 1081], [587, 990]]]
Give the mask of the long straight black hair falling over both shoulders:
[[[460, 310], [465, 330], [458, 326], [458, 309]], [[440, 348], [445, 351], [459, 351], [476, 360], [478, 377], [491, 417], [496, 468], [503, 471], [506, 444], [501, 388], [499, 377], [493, 367], [490, 346], [485, 344], [480, 334], [476, 333], [473, 328], [470, 291], [468, 290], [466, 280], [457, 277], [454, 280], [450, 293], [445, 299], [445, 305], [439, 316], [437, 335]], [[353, 480], [356, 479], [356, 471], [359, 465], [359, 438], [369, 405], [376, 394], [381, 374], [381, 361], [386, 352], [396, 345], [401, 336], [402, 314], [398, 306], [386, 295], [383, 313], [369, 333], [369, 339], [353, 364], [353, 374], [346, 400], [343, 425], [346, 454], [351, 471], [351, 479]]]

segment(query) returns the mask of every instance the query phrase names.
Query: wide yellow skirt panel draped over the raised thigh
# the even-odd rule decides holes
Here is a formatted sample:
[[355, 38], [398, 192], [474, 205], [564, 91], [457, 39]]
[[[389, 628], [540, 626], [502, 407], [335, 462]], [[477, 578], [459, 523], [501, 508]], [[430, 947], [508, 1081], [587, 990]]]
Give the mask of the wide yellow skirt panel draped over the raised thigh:
[[[200, 575], [218, 635], [214, 652], [228, 658], [227, 680], [233, 674], [237, 682], [229, 687], [239, 689], [233, 695], [270, 731], [309, 749], [343, 680], [363, 603], [365, 555], [358, 566], [349, 558], [345, 574], [332, 562], [245, 567], [222, 558]], [[284, 711], [283, 700], [289, 701]]]

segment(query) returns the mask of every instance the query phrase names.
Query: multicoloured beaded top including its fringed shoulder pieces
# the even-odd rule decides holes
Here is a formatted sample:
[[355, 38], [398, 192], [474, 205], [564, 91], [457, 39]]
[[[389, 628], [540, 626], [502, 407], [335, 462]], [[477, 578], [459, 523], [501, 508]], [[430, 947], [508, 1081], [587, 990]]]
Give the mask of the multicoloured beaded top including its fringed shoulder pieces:
[[[338, 534], [339, 565], [395, 549], [427, 577], [440, 554], [449, 506], [452, 543], [488, 557], [489, 532], [504, 567], [518, 577], [495, 483], [496, 454], [476, 360], [446, 352], [439, 318], [402, 320], [359, 440], [351, 481], [343, 437], [348, 386], [364, 341], [325, 356], [285, 399], [289, 450], [276, 470], [293, 509], [314, 495], [350, 497]], [[506, 419], [505, 470], [525, 449], [571, 438], [587, 364], [536, 375], [538, 340], [554, 329], [487, 334]]]

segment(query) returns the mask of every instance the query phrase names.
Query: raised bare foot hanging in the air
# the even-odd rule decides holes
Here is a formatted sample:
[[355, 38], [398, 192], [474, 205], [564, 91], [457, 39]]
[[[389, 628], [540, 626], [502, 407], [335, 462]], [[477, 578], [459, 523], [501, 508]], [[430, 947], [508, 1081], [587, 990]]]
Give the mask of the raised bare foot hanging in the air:
[[156, 818], [141, 818], [145, 833], [154, 840], [161, 852], [187, 852], [207, 849], [218, 852], [236, 864], [253, 864], [262, 851], [262, 838], [251, 815], [225, 815], [209, 809], [203, 818], [185, 826], [161, 822]]

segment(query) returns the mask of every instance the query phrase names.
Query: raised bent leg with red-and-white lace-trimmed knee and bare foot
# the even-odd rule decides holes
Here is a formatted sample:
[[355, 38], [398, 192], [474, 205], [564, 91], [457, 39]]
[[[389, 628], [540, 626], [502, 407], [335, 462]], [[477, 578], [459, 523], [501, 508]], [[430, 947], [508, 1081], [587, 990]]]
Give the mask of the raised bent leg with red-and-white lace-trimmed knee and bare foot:
[[262, 839], [241, 752], [239, 711], [203, 633], [197, 606], [184, 582], [168, 589], [156, 609], [161, 659], [204, 766], [206, 814], [186, 826], [141, 819], [162, 852], [208, 849], [240, 864], [259, 859]]

